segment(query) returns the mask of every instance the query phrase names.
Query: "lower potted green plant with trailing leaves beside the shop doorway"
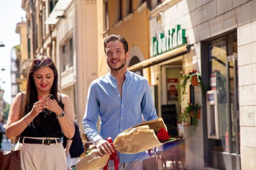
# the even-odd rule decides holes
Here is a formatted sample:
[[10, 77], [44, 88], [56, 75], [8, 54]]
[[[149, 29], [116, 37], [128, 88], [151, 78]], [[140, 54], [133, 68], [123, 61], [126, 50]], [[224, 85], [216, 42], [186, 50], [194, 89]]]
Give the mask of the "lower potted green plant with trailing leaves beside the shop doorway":
[[190, 117], [192, 118], [193, 130], [196, 131], [198, 126], [198, 119], [200, 119], [201, 107], [198, 104], [188, 104], [188, 106], [181, 113], [182, 122], [190, 122]]

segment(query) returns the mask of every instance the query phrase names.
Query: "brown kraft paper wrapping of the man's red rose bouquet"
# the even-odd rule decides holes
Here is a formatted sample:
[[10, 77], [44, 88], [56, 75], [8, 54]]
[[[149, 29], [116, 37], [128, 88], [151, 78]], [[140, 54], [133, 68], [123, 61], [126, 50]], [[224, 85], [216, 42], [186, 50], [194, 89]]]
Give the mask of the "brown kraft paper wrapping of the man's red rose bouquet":
[[[162, 118], [140, 123], [118, 134], [113, 143], [112, 140], [110, 140], [111, 138], [108, 138], [108, 141], [119, 153], [133, 154], [143, 152], [165, 144], [166, 142], [176, 140], [169, 138], [166, 141], [159, 141], [155, 134], [159, 130], [165, 132], [167, 131], [166, 125]], [[162, 134], [159, 135], [162, 136]], [[81, 160], [75, 165], [73, 169], [96, 170], [107, 165], [109, 159], [114, 160], [114, 163], [117, 165], [118, 169], [119, 158], [117, 154], [112, 154], [111, 156], [104, 154], [103, 156], [100, 156], [97, 150], [94, 149], [84, 152], [80, 156], [80, 159]], [[107, 167], [104, 167], [104, 170], [105, 169], [107, 170]]]

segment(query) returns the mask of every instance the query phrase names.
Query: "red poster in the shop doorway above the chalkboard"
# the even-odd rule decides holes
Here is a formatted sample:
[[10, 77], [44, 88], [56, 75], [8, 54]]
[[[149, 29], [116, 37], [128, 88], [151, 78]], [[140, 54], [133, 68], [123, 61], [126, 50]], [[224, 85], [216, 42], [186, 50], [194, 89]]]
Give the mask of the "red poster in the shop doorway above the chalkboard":
[[168, 100], [177, 100], [178, 79], [167, 79]]

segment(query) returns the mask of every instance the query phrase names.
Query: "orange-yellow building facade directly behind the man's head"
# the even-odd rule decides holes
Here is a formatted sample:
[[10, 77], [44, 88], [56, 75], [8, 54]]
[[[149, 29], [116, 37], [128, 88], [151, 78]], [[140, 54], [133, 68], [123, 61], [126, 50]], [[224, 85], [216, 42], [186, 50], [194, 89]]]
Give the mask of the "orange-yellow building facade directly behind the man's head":
[[[97, 1], [97, 10], [98, 76], [109, 71], [103, 45], [104, 39], [109, 35], [121, 35], [129, 42], [128, 66], [149, 58], [149, 10], [146, 1]], [[148, 70], [137, 70], [136, 73], [150, 78]]]

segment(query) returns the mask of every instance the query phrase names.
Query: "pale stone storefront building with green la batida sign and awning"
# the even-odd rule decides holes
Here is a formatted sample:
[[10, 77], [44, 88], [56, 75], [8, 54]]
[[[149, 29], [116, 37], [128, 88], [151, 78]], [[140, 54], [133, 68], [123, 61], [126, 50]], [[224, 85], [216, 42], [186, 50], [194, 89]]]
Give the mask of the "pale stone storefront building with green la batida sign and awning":
[[[178, 117], [188, 103], [202, 107], [196, 131], [184, 128], [187, 168], [255, 169], [256, 1], [147, 3], [152, 58], [128, 69], [151, 68], [158, 115], [167, 127], [177, 129], [173, 136], [177, 124], [184, 123]], [[202, 74], [207, 91], [190, 86], [182, 96], [178, 85], [191, 70]], [[167, 114], [176, 118], [165, 115], [166, 107], [173, 107]]]

